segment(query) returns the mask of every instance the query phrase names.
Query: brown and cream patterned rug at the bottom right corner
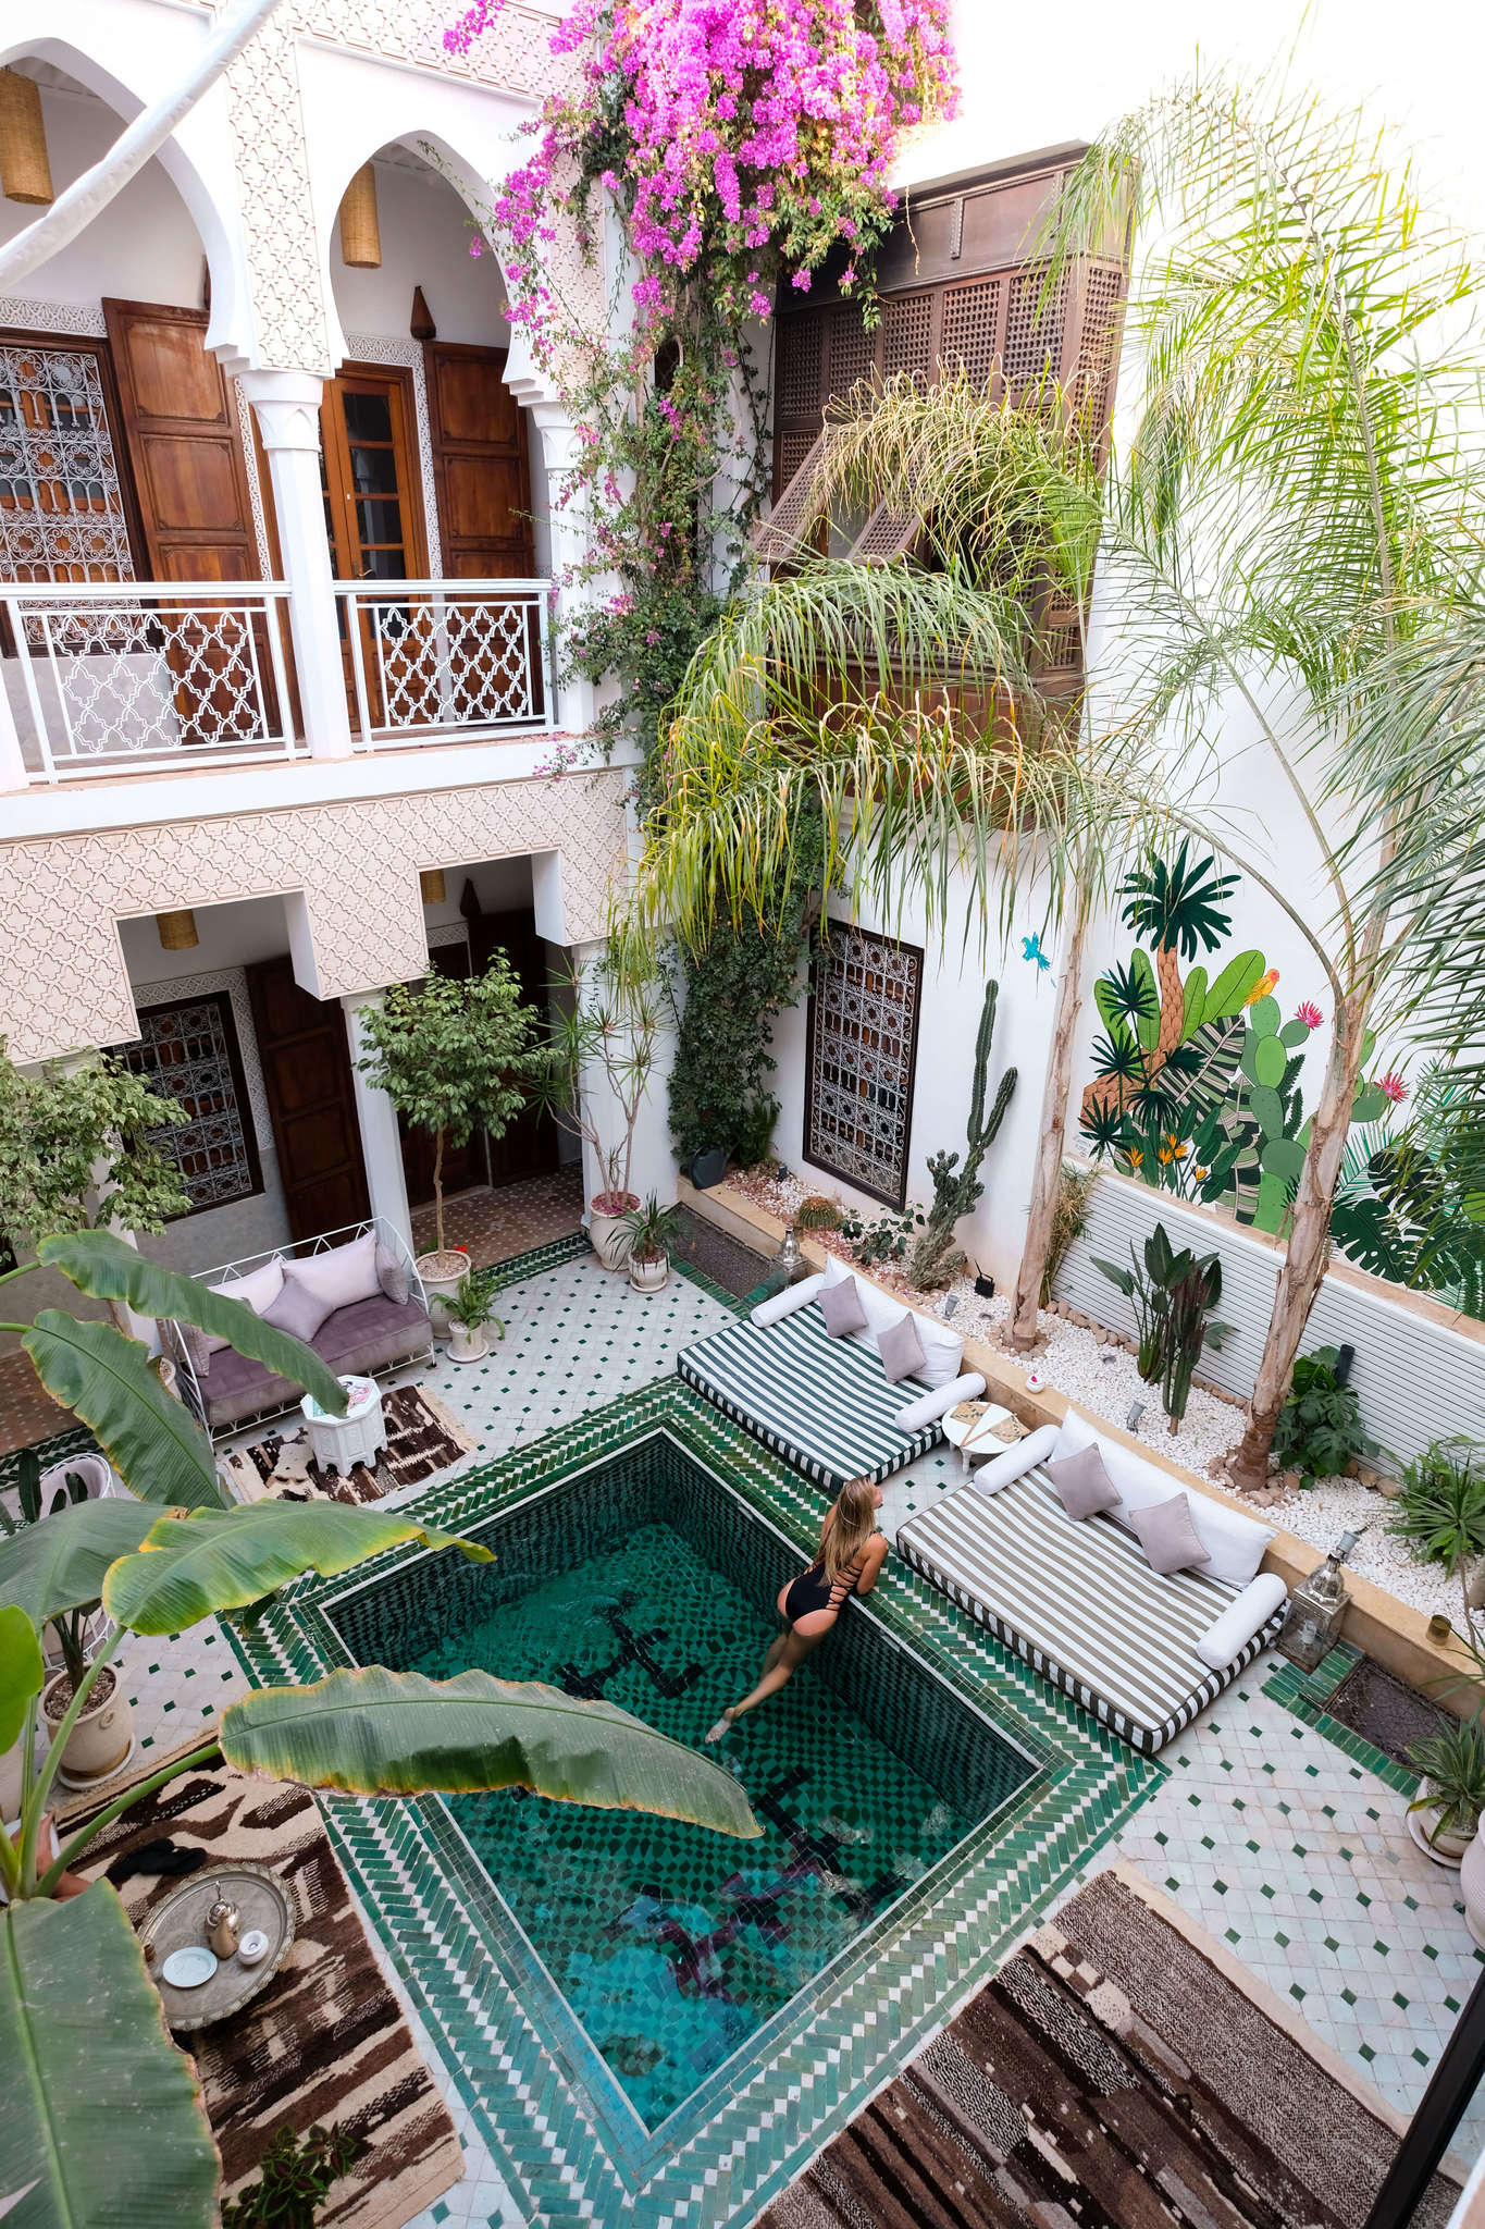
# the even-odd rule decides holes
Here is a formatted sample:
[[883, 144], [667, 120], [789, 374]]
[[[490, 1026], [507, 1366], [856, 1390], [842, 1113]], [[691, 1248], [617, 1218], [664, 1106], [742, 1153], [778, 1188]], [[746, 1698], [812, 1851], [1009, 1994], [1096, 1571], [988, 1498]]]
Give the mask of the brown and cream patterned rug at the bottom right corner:
[[[1100, 1872], [757, 2229], [1360, 2229], [1400, 2124], [1258, 1997], [1131, 1868]], [[1456, 2198], [1434, 2178], [1414, 2229]]]

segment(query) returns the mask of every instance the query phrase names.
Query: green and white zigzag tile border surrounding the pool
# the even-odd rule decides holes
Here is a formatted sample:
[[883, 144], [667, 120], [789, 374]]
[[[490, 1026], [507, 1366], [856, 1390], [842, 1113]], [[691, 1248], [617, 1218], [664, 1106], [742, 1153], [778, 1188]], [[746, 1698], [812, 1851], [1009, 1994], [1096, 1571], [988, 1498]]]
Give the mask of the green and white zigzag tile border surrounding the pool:
[[[519, 1257], [521, 1271], [541, 1275], [583, 1250], [583, 1237], [557, 1242]], [[712, 1291], [710, 1279], [677, 1268]], [[715, 1297], [739, 1313], [746, 1306], [735, 1295]], [[401, 1507], [468, 1529], [655, 1431], [719, 1469], [801, 1549], [813, 1547], [826, 1496], [679, 1380], [626, 1393]], [[412, 1554], [390, 1551], [378, 1574]], [[256, 1685], [312, 1681], [345, 1663], [323, 1605], [347, 1585], [347, 1576], [296, 1580], [252, 1629], [232, 1632], [247, 1676]], [[530, 1990], [517, 1993], [530, 1959], [521, 1975], [503, 1959], [501, 1930], [512, 1921], [483, 1872], [472, 1877], [472, 1859], [436, 1799], [321, 1797], [367, 1921], [530, 2220], [710, 2229], [755, 2213], [922, 2048], [1169, 1777], [1167, 1765], [1129, 1750], [906, 1565], [888, 1560], [866, 1614], [1031, 1750], [1040, 1770], [935, 1868], [922, 1892], [884, 1915], [817, 1993], [804, 1993], [759, 2031], [757, 2051], [715, 2073], [661, 2131], [643, 2129], [561, 1999], [539, 2004]]]

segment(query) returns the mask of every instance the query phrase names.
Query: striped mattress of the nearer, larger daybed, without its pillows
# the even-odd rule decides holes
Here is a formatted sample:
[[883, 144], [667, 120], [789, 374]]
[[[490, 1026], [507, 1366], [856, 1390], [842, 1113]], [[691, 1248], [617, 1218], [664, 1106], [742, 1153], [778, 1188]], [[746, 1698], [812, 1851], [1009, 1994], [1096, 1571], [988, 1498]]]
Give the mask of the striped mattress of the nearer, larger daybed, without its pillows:
[[899, 1554], [1131, 1748], [1153, 1752], [1216, 1703], [1282, 1614], [1225, 1672], [1193, 1643], [1236, 1587], [1162, 1578], [1111, 1518], [1069, 1518], [1040, 1467], [1000, 1493], [960, 1487], [897, 1534]]

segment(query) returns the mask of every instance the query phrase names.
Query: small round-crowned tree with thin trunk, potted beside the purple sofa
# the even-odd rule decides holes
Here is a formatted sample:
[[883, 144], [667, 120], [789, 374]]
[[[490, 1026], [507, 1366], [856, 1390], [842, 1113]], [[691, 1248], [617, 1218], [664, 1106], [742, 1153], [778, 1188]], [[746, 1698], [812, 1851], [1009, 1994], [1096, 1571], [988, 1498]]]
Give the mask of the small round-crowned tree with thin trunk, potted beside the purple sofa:
[[443, 1148], [505, 1137], [528, 1099], [532, 1010], [503, 952], [481, 976], [394, 983], [365, 1014], [363, 1077], [434, 1141], [434, 1235], [443, 1253]]

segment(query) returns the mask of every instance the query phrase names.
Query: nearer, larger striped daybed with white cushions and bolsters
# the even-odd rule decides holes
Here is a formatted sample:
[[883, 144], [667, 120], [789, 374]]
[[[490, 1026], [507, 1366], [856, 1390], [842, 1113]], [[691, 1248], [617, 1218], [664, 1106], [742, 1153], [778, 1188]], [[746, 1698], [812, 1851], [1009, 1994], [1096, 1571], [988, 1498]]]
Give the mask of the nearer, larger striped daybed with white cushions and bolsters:
[[[1118, 1509], [1071, 1518], [1044, 1464], [1098, 1447]], [[1069, 1409], [897, 1531], [897, 1551], [977, 1625], [1055, 1681], [1131, 1748], [1153, 1754], [1265, 1649], [1285, 1583], [1260, 1574], [1267, 1525], [1187, 1496], [1207, 1569], [1162, 1576], [1129, 1513], [1178, 1480]]]

